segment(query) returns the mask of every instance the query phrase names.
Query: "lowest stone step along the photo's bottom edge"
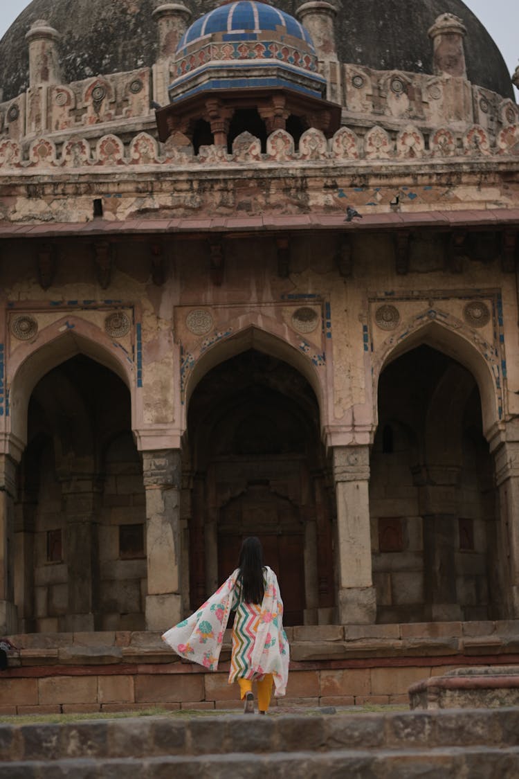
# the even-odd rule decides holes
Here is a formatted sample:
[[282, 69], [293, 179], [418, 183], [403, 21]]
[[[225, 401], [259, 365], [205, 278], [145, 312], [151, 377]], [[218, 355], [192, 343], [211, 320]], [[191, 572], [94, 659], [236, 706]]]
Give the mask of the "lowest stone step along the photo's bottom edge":
[[251, 755], [24, 761], [0, 765], [0, 779], [517, 779], [519, 749], [334, 749]]

